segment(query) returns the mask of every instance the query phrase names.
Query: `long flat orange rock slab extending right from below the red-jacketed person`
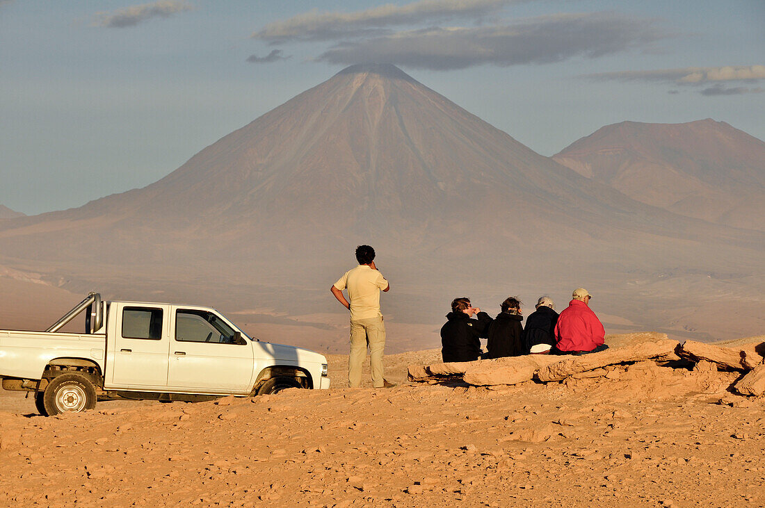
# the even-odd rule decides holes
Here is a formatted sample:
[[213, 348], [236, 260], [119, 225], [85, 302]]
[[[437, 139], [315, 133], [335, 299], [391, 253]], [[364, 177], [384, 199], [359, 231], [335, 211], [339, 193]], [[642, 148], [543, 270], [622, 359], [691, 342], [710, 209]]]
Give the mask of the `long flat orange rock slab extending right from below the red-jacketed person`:
[[594, 370], [606, 365], [624, 364], [643, 360], [671, 360], [677, 358], [675, 350], [679, 348], [678, 341], [661, 340], [643, 342], [643, 344], [625, 348], [611, 348], [598, 353], [582, 354], [581, 356], [565, 356], [562, 361], [540, 367], [536, 379], [542, 382], [560, 381], [572, 374]]

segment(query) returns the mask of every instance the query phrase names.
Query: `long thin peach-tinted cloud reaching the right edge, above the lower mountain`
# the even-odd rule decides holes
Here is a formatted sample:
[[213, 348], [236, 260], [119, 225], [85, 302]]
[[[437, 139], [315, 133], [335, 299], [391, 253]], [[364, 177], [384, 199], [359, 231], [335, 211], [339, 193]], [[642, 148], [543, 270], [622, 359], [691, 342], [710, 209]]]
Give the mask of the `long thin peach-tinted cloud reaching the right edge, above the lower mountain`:
[[686, 67], [685, 69], [633, 70], [620, 73], [588, 74], [593, 79], [620, 81], [666, 81], [695, 85], [720, 81], [755, 81], [765, 79], [765, 66]]

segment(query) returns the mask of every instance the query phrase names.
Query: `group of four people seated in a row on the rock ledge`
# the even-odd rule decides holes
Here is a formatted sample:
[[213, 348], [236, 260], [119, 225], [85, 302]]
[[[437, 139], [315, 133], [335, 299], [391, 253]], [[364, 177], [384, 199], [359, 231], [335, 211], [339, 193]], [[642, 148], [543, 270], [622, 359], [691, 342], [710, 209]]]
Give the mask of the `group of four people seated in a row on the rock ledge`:
[[[447, 322], [441, 327], [441, 355], [444, 362], [474, 361], [522, 354], [587, 354], [603, 351], [605, 330], [590, 309], [591, 294], [577, 288], [568, 308], [560, 314], [549, 296], [542, 296], [535, 312], [523, 321], [522, 302], [510, 296], [500, 304], [502, 312], [492, 319], [470, 304], [469, 298], [455, 298]], [[476, 319], [473, 319], [473, 316]], [[487, 352], [480, 339], [487, 339]]]

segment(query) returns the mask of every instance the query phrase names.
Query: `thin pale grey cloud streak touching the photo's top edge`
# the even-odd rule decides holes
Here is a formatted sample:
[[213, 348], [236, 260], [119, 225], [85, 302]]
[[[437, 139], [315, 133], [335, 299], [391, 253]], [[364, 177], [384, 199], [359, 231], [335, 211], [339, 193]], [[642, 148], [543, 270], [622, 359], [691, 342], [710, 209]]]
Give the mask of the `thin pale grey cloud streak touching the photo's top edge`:
[[419, 0], [408, 5], [380, 5], [355, 12], [305, 12], [266, 24], [253, 39], [270, 44], [291, 40], [340, 40], [389, 34], [388, 27], [438, 23], [455, 18], [480, 19], [496, 15], [506, 5], [531, 0]]

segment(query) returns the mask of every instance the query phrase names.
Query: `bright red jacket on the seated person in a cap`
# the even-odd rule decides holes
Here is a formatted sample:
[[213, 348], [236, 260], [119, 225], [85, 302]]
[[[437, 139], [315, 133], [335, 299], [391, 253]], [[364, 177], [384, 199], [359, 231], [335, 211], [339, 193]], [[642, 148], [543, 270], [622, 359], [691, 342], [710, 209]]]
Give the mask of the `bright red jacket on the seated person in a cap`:
[[604, 343], [606, 331], [597, 315], [580, 300], [571, 300], [555, 325], [555, 347], [561, 351], [592, 351]]

